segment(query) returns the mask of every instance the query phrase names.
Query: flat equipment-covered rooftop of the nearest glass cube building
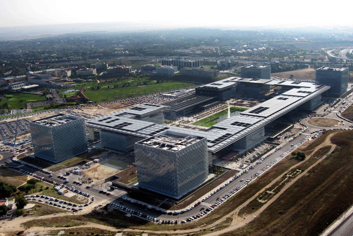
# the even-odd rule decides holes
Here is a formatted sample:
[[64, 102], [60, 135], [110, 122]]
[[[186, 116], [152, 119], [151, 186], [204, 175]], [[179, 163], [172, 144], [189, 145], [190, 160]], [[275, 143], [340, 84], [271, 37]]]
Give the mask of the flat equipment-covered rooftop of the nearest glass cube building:
[[193, 135], [185, 137], [185, 135], [179, 136], [165, 132], [165, 134], [156, 135], [154, 137], [144, 139], [138, 143], [153, 148], [177, 152], [187, 146], [192, 145], [193, 143], [198, 142], [202, 138], [203, 137]]

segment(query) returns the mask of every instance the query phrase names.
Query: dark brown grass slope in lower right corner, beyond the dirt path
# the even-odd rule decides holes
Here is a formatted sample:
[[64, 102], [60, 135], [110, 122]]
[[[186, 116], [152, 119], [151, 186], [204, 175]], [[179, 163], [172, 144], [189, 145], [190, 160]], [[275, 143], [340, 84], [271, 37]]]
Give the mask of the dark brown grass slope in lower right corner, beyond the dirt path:
[[[274, 236], [319, 235], [353, 202], [352, 140], [352, 131], [336, 133], [331, 142], [339, 147], [333, 153], [290, 186], [247, 226], [223, 235], [259, 236], [264, 232]], [[312, 149], [312, 146], [307, 148]]]

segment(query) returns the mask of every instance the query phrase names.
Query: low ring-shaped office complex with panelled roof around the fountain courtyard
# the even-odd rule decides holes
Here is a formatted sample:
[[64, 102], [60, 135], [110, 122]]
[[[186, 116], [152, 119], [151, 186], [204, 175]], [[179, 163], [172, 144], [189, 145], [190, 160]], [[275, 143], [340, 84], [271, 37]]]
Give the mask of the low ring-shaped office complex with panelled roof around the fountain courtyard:
[[[281, 89], [279, 89], [275, 97], [240, 114], [220, 121], [207, 131], [166, 126], [152, 121], [154, 112], [158, 111], [158, 116], [160, 116], [161, 110], [163, 110], [162, 114], [164, 116], [175, 118], [185, 114], [195, 114], [199, 110], [221, 103], [224, 98], [234, 94], [235, 88], [237, 93], [243, 92], [238, 90], [238, 86], [242, 89], [251, 88], [249, 84], [257, 84], [263, 88], [278, 87]], [[242, 87], [243, 85], [244, 87]], [[314, 109], [321, 103], [321, 94], [329, 89], [329, 86], [315, 85], [309, 82], [229, 77], [200, 86], [197, 88], [196, 94], [186, 95], [162, 105], [154, 105], [158, 107], [149, 109], [150, 112], [148, 113], [152, 117], [146, 116], [148, 120], [137, 120], [136, 115], [129, 114], [132, 111], [131, 108], [128, 108], [89, 120], [86, 125], [89, 127], [91, 137], [93, 137], [94, 128], [101, 130], [101, 132], [109, 133], [109, 135], [120, 137], [119, 142], [111, 141], [112, 143], [109, 145], [112, 146], [106, 145], [118, 150], [128, 150], [128, 148], [133, 147], [133, 141], [138, 140], [135, 142], [139, 142], [168, 130], [206, 137], [208, 152], [217, 156], [221, 155], [219, 153], [225, 148], [229, 150], [246, 150], [253, 147], [266, 138], [264, 133], [265, 125], [271, 125], [271, 122], [296, 109], [308, 111]], [[140, 105], [135, 107], [132, 108], [136, 109], [136, 111], [140, 110]], [[154, 109], [156, 110], [154, 111]], [[148, 110], [140, 112], [143, 114], [145, 113], [144, 111]], [[111, 136], [110, 140], [112, 139]], [[120, 140], [124, 142], [120, 142]], [[211, 163], [211, 160], [209, 163]]]

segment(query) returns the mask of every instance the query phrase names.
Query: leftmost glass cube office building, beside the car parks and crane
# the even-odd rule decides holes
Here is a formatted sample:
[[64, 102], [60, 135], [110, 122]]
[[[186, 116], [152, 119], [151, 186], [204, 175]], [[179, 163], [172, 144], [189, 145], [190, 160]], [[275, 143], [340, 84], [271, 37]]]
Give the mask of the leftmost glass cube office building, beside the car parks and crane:
[[55, 114], [29, 124], [36, 157], [56, 163], [87, 151], [84, 118]]

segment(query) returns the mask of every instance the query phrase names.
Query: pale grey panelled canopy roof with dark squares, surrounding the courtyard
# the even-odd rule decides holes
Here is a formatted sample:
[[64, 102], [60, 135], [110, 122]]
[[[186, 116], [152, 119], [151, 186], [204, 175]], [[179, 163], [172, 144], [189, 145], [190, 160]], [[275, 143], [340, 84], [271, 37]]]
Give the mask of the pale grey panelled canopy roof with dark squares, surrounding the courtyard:
[[[216, 83], [227, 83], [227, 81], [231, 81], [234, 84], [237, 82], [237, 79], [241, 78], [230, 77], [217, 81]], [[222, 148], [225, 148], [228, 145], [234, 143], [235, 141], [238, 141], [240, 138], [245, 137], [248, 133], [261, 128], [272, 122], [274, 119], [292, 111], [303, 103], [309, 101], [311, 98], [321, 94], [324, 91], [327, 91], [330, 88], [329, 86], [316, 85], [315, 83], [309, 82], [293, 82], [294, 81], [285, 81], [282, 83], [281, 80], [257, 81], [257, 83], [265, 83], [269, 85], [278, 84], [279, 86], [286, 86], [289, 88], [289, 90], [261, 104], [253, 106], [250, 109], [241, 112], [237, 116], [223, 120], [222, 122], [213, 125], [207, 131], [195, 129], [191, 130], [177, 126], [166, 126], [152, 122], [136, 120], [133, 119], [131, 114], [127, 113], [127, 109], [102, 116], [100, 118], [92, 119], [86, 122], [86, 125], [106, 130], [108, 132], [114, 131], [126, 135], [128, 134], [145, 138], [149, 138], [166, 131], [179, 132], [184, 134], [189, 133], [193, 136], [206, 137], [208, 151], [215, 153]], [[213, 97], [211, 96], [191, 94], [182, 99], [175, 99], [174, 101], [164, 103], [163, 105], [170, 106], [168, 110], [178, 111], [212, 99]], [[130, 117], [127, 117], [127, 115]], [[113, 122], [119, 122], [119, 124], [112, 122], [108, 123], [108, 121], [114, 120], [112, 118], [117, 118], [116, 116], [119, 116], [121, 120]], [[104, 122], [102, 122], [103, 119]]]

